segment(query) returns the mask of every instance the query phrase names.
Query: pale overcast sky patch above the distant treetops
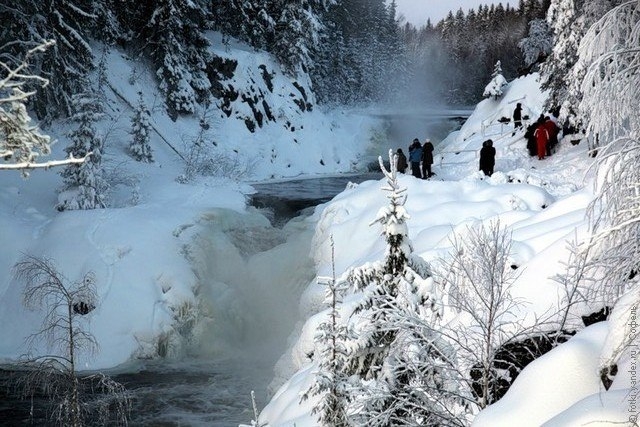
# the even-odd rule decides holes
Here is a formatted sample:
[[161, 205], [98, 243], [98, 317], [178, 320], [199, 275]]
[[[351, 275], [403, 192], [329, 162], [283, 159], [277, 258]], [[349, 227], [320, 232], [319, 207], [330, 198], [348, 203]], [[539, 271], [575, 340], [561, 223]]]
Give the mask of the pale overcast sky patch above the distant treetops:
[[[405, 19], [415, 25], [421, 27], [431, 18], [434, 24], [447, 16], [450, 10], [455, 13], [462, 8], [465, 13], [469, 9], [477, 9], [481, 4], [500, 3], [492, 0], [396, 0], [398, 5], [398, 14], [404, 15]], [[517, 7], [518, 0], [502, 0], [504, 6], [510, 4]]]

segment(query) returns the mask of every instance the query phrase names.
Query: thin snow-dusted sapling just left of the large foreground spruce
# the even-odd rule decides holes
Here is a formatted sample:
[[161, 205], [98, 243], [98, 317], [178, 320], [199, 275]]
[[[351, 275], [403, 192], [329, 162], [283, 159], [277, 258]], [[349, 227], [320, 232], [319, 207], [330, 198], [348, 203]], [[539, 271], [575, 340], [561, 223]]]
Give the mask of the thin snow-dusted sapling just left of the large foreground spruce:
[[349, 425], [348, 378], [345, 373], [347, 348], [345, 343], [352, 338], [348, 325], [341, 321], [340, 306], [342, 304], [340, 289], [336, 283], [335, 247], [331, 237], [331, 277], [319, 277], [318, 283], [326, 286], [325, 302], [328, 305], [327, 319], [320, 323], [314, 337], [316, 343], [317, 369], [314, 371], [313, 383], [301, 396], [301, 400], [315, 398], [316, 404], [312, 414], [318, 422], [327, 427], [345, 427]]

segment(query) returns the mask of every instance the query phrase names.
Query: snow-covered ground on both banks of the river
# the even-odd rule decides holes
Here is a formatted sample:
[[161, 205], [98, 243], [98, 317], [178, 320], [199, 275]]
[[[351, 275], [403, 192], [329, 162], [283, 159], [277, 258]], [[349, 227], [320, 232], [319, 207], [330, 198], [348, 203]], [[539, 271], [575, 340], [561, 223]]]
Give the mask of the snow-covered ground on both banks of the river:
[[[240, 72], [232, 82], [236, 86], [244, 81], [259, 82], [260, 65], [275, 69], [267, 55], [238, 46], [231, 50], [239, 60]], [[12, 278], [11, 268], [23, 254], [51, 258], [69, 281], [88, 271], [95, 273], [98, 304], [82, 325], [95, 335], [100, 349], [95, 355], [82, 354], [82, 367], [103, 369], [136, 357], [180, 354], [203, 337], [215, 350], [216, 337], [209, 329], [216, 318], [209, 311], [210, 303], [222, 300], [222, 305], [233, 305], [236, 294], [230, 283], [237, 283], [236, 272], [255, 266], [241, 263], [243, 254], [234, 252], [242, 244], [251, 247], [252, 237], [237, 236], [268, 225], [264, 217], [247, 208], [246, 195], [253, 190], [246, 182], [350, 172], [371, 149], [372, 140], [380, 139], [379, 122], [366, 116], [291, 108], [291, 102], [285, 101], [294, 92], [291, 82], [274, 72], [275, 89], [270, 99], [278, 121], [252, 133], [243, 121], [243, 115], [249, 113], [240, 103], [234, 110], [237, 120], [212, 119], [210, 137], [217, 145], [211, 150], [218, 153], [219, 161], [231, 166], [233, 173], [228, 175], [241, 178], [240, 183], [230, 177], [207, 177], [179, 184], [175, 179], [184, 166], [175, 150], [185, 154], [187, 141], [197, 133], [197, 118], [172, 122], [152, 90], [151, 75], [118, 51], [110, 53], [109, 63], [113, 92], [107, 102], [109, 118], [101, 130], [107, 138], [105, 167], [112, 183], [111, 207], [56, 212], [55, 190], [60, 178], [55, 172], [36, 171], [28, 181], [17, 173], [0, 175], [3, 361], [15, 361], [27, 351], [25, 337], [37, 330], [41, 321], [41, 313], [24, 309], [22, 284]], [[138, 91], [144, 93], [152, 110], [156, 159], [152, 164], [136, 163], [126, 154], [130, 105], [135, 104]], [[481, 102], [463, 128], [438, 146], [435, 179], [400, 178], [409, 195], [410, 238], [415, 251], [428, 261], [448, 251], [449, 237], [461, 227], [495, 218], [509, 226], [513, 263], [521, 272], [513, 291], [525, 301], [520, 313], [524, 324], [532, 323], [536, 315], [553, 312], [560, 304], [563, 291], [551, 277], [562, 271], [567, 241], [584, 233], [585, 209], [592, 198], [591, 159], [584, 144], [563, 143], [551, 158], [539, 161], [528, 156], [522, 132], [512, 135], [509, 125], [497, 122], [511, 116], [516, 102], [525, 107], [523, 114], [535, 118], [542, 112], [543, 101], [535, 75], [512, 82], [500, 100]], [[58, 156], [70, 126], [59, 123], [49, 129], [59, 139], [54, 151]], [[416, 136], [424, 139], [428, 135]], [[497, 162], [496, 173], [487, 179], [478, 172], [477, 153], [488, 138], [494, 140]], [[369, 226], [387, 203], [381, 183], [350, 186], [305, 220], [307, 226], [315, 225], [310, 251], [316, 275], [327, 275], [330, 270], [330, 235], [335, 239], [338, 273], [383, 257], [380, 230]], [[299, 232], [308, 232], [308, 228], [290, 227], [282, 239]], [[231, 249], [224, 239], [234, 234], [236, 249]], [[254, 260], [260, 268], [278, 270], [283, 282], [293, 278], [304, 281], [297, 286], [306, 288], [298, 310], [291, 301], [270, 301], [276, 306], [280, 301], [281, 311], [293, 312], [294, 317], [299, 312], [305, 320], [293, 331], [290, 349], [276, 367], [273, 386], [279, 389], [260, 417], [271, 426], [316, 425], [310, 415], [313, 402], [300, 404], [299, 395], [308, 387], [313, 371], [308, 354], [313, 349], [314, 326], [322, 317], [322, 289], [304, 274], [294, 276], [286, 271], [297, 267], [285, 262], [287, 257], [306, 255], [308, 248], [301, 245], [292, 244], [287, 253], [276, 250], [271, 258]], [[280, 261], [273, 262], [276, 259]], [[204, 264], [199, 263], [202, 260]], [[216, 270], [215, 279], [211, 269]], [[259, 304], [253, 306], [259, 308]], [[227, 312], [229, 316], [233, 313]], [[235, 314], [242, 318], [246, 313]], [[571, 319], [572, 326], [578, 327], [578, 320]], [[584, 417], [602, 419], [599, 416], [626, 419], [620, 411], [627, 408], [628, 381], [619, 380], [615, 391], [597, 394], [602, 390], [593, 367], [607, 328], [603, 323], [586, 329], [532, 364], [503, 401], [478, 417], [478, 425], [524, 425], [528, 414], [536, 416], [531, 425], [547, 420], [549, 425], [571, 425], [578, 419], [587, 420]], [[33, 351], [45, 351], [44, 343]], [[568, 363], [575, 367], [562, 369]], [[571, 392], [564, 392], [561, 386]], [[543, 404], [546, 399], [552, 399], [553, 404]], [[598, 407], [605, 409], [599, 411]], [[591, 412], [585, 415], [584, 408]]]

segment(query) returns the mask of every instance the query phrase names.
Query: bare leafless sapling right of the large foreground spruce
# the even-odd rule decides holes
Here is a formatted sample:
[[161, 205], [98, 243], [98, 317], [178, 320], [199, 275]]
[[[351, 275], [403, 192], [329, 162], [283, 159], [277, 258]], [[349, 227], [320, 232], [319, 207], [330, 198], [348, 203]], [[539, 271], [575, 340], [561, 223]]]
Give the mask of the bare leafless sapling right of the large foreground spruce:
[[496, 221], [469, 227], [451, 244], [451, 253], [440, 260], [437, 271], [449, 295], [447, 305], [459, 320], [442, 333], [457, 348], [466, 396], [476, 390], [477, 407], [482, 409], [497, 400], [494, 388], [501, 373], [495, 367], [496, 352], [524, 332], [516, 317], [519, 303], [510, 294], [515, 279], [509, 262], [511, 236]]

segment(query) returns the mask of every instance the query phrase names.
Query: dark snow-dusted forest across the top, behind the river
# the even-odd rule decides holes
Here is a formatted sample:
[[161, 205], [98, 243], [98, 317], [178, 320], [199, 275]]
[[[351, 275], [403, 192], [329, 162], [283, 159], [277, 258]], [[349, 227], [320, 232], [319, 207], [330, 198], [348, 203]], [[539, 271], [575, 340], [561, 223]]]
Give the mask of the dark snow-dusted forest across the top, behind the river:
[[[309, 75], [325, 104], [394, 100], [407, 87], [428, 86], [430, 96], [472, 103], [482, 94], [497, 60], [505, 76], [524, 66], [518, 47], [531, 20], [548, 1], [522, 0], [451, 12], [422, 28], [403, 24], [395, 2], [384, 0], [17, 0], [0, 5], [0, 61], [15, 65], [45, 40], [56, 43], [34, 57], [32, 72], [49, 80], [32, 109], [46, 124], [73, 113], [72, 98], [94, 83], [104, 50], [125, 49], [156, 71], [171, 117], [220, 98], [228, 67], [209, 49], [209, 30], [272, 53], [292, 77]], [[437, 84], [436, 84], [437, 82]], [[97, 82], [100, 85], [100, 82]]]

